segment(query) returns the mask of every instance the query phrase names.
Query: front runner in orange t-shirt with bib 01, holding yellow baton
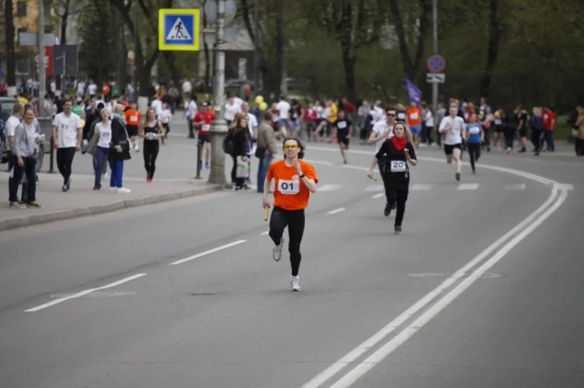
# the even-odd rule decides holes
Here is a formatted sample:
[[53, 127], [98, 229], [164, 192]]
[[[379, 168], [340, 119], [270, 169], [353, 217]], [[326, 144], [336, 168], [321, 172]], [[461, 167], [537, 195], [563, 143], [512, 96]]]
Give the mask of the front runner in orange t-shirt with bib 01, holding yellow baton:
[[269, 235], [276, 246], [273, 258], [279, 261], [284, 245], [284, 228], [288, 227], [288, 252], [290, 252], [290, 291], [300, 291], [298, 269], [302, 255], [300, 242], [304, 234], [304, 209], [308, 206], [310, 193], [317, 191], [318, 176], [314, 167], [302, 160], [304, 144], [297, 138], [284, 139], [284, 160], [273, 162], [267, 168], [263, 185], [263, 207], [270, 207], [267, 193], [272, 179], [274, 186], [274, 209], [270, 217]]

